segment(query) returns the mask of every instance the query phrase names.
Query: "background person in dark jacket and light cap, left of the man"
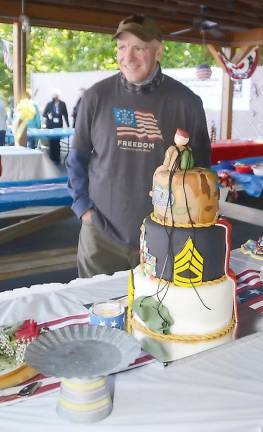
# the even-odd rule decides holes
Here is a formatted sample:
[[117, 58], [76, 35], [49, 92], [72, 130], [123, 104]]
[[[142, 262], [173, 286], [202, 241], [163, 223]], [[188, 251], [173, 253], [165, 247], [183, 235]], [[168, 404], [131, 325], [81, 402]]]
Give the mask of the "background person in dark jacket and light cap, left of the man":
[[[69, 127], [68, 110], [65, 102], [60, 100], [60, 91], [54, 89], [52, 91], [52, 100], [47, 103], [43, 117], [46, 119], [47, 129], [62, 128], [63, 119]], [[56, 164], [60, 164], [60, 138], [52, 138], [49, 140], [49, 156]]]

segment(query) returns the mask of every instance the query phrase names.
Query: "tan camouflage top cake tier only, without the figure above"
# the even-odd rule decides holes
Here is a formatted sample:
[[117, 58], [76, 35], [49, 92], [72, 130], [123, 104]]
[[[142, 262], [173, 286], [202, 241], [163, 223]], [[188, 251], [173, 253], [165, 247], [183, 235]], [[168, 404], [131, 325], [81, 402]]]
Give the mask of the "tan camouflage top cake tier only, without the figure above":
[[164, 166], [161, 170], [157, 168], [153, 176], [155, 218], [167, 225], [214, 223], [219, 211], [217, 174], [205, 168], [193, 168], [175, 171], [170, 176], [171, 172]]

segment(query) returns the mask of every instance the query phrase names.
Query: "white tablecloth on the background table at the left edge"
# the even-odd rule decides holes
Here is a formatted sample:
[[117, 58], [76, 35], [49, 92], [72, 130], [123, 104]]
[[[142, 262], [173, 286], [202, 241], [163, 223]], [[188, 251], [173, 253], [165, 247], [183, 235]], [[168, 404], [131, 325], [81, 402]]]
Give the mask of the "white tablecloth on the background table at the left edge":
[[2, 175], [0, 183], [58, 177], [59, 169], [48, 154], [26, 147], [0, 147]]

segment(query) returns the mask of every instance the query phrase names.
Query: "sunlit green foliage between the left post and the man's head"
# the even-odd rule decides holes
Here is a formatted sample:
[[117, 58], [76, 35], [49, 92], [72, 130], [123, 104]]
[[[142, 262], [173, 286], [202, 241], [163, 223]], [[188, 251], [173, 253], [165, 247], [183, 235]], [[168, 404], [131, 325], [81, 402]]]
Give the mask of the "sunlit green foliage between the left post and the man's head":
[[[39, 48], [43, 45], [44, 47]], [[27, 53], [30, 72], [80, 72], [116, 69], [110, 35], [34, 27]]]

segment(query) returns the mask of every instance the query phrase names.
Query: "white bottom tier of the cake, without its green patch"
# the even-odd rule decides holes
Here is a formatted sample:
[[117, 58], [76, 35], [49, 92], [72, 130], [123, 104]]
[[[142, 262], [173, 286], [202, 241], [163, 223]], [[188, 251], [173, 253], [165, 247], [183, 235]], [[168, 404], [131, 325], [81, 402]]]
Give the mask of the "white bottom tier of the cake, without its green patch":
[[[168, 285], [157, 278], [147, 278], [138, 266], [134, 270], [133, 283], [134, 301], [141, 299], [140, 304], [143, 305], [144, 298], [152, 298], [156, 304], [161, 302], [167, 308], [173, 321], [167, 340], [170, 335], [172, 338], [175, 335], [174, 340], [176, 335], [181, 336], [182, 341], [184, 336], [186, 341], [191, 341], [193, 337], [193, 341], [196, 339], [196, 342], [202, 338], [203, 340], [216, 339], [233, 328], [235, 282], [228, 276], [220, 282], [185, 288], [172, 283]], [[132, 311], [132, 319], [135, 323], [139, 323], [140, 333], [144, 333], [144, 329], [147, 331], [148, 324], [134, 311]], [[133, 327], [135, 334], [136, 326]], [[136, 329], [138, 330], [138, 327]]]

